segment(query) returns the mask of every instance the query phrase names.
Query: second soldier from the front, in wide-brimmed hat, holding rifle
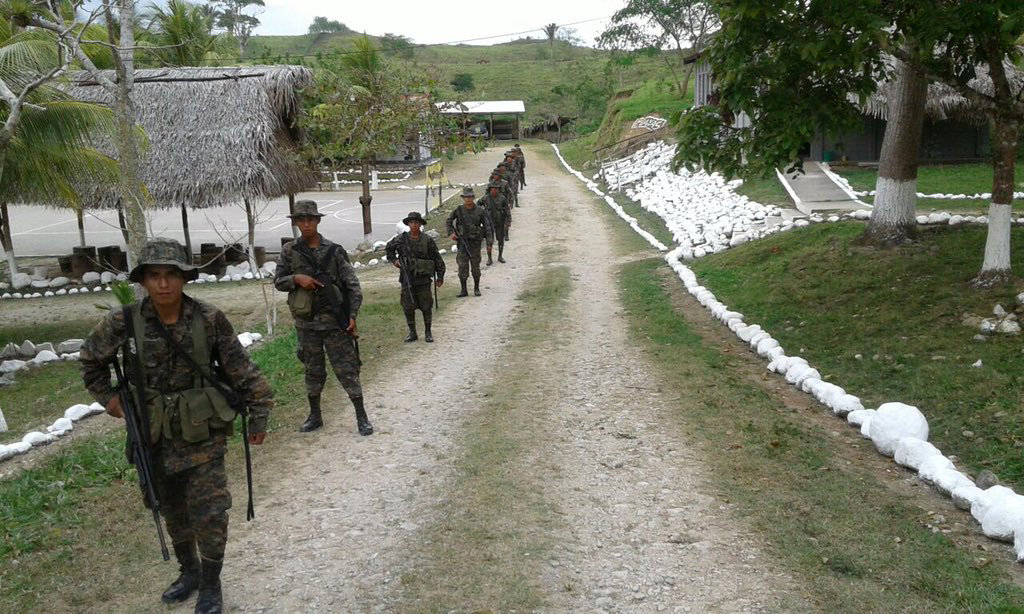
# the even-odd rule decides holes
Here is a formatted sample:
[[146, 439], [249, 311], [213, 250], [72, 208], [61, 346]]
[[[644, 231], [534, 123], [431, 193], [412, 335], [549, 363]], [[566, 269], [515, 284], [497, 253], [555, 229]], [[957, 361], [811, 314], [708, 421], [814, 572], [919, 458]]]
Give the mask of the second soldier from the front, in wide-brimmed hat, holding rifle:
[[[288, 306], [299, 337], [297, 354], [306, 371], [309, 416], [299, 431], [308, 433], [324, 426], [321, 393], [327, 382], [326, 352], [334, 375], [355, 407], [359, 435], [372, 435], [374, 427], [367, 418], [359, 384], [355, 316], [362, 305], [362, 291], [355, 269], [341, 246], [317, 232], [324, 214], [316, 210], [315, 202], [297, 202], [294, 213], [288, 217], [302, 235], [281, 249], [273, 284], [288, 293]], [[333, 305], [329, 293], [339, 309]], [[340, 322], [339, 317], [346, 321]]]

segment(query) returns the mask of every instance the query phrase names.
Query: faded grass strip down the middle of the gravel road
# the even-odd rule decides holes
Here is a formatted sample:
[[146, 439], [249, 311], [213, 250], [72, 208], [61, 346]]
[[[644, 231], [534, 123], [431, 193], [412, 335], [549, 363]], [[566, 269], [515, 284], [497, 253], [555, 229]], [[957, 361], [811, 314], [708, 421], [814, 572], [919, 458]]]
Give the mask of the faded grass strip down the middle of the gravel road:
[[[563, 257], [550, 248], [550, 259]], [[537, 425], [547, 422], [523, 403], [538, 360], [557, 343], [571, 289], [567, 267], [540, 273], [519, 295], [523, 313], [512, 326], [506, 377], [460, 429], [456, 477], [438, 506], [440, 520], [413, 540], [401, 576], [402, 612], [530, 612], [545, 605], [539, 578], [559, 520], [530, 463], [543, 458]], [[539, 455], [540, 454], [540, 455]]]

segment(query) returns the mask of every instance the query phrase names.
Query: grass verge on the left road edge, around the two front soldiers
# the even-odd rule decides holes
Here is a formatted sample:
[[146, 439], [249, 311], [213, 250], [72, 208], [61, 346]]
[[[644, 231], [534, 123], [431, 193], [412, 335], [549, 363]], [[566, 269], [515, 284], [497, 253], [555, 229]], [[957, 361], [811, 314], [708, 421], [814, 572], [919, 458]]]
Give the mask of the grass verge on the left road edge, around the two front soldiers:
[[[386, 360], [401, 346], [404, 319], [396, 288], [364, 292], [359, 311], [364, 379], [385, 368]], [[441, 289], [440, 317], [456, 292], [449, 284]], [[294, 332], [254, 350], [253, 359], [270, 381], [276, 398], [268, 444], [254, 454], [259, 488], [261, 482], [276, 479], [271, 467], [299, 436], [296, 426], [308, 408]], [[40, 372], [47, 378], [49, 372], [56, 374]], [[76, 397], [81, 398], [85, 391], [77, 374], [66, 377], [68, 390], [77, 389]], [[18, 381], [26, 383], [30, 380]], [[328, 386], [332, 394], [337, 393], [336, 384]], [[371, 415], [372, 411], [371, 407]], [[228, 450], [228, 472], [238, 509], [245, 496], [241, 451], [236, 436]], [[153, 520], [140, 503], [135, 481], [135, 472], [124, 457], [124, 434], [119, 431], [74, 441], [39, 467], [0, 482], [0, 609], [117, 611], [111, 602], [119, 596], [156, 596], [173, 569], [159, 561]], [[259, 491], [256, 496], [258, 514]], [[242, 516], [233, 518], [240, 522]]]

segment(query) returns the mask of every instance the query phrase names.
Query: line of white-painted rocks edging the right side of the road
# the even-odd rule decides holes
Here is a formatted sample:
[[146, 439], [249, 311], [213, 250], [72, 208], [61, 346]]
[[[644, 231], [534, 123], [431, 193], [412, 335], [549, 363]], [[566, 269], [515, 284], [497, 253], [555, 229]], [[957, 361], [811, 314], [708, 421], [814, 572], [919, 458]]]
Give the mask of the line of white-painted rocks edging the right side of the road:
[[[591, 191], [604, 196], [597, 184], [587, 180], [565, 162], [557, 145], [552, 146], [566, 170], [584, 181]], [[651, 170], [655, 176], [669, 172], [667, 169], [657, 170], [652, 167], [653, 165], [646, 167], [646, 169]], [[630, 176], [637, 177], [638, 175], [643, 175], [643, 173], [637, 172]], [[634, 181], [642, 181], [648, 176], [650, 175], [643, 175]], [[664, 179], [664, 174], [660, 176]], [[703, 180], [703, 177], [697, 174], [681, 175], [681, 177], [683, 180], [686, 178], [698, 182]], [[715, 183], [717, 184], [718, 181], [716, 180]], [[699, 193], [699, 190], [695, 193]], [[627, 222], [632, 220], [630, 226], [637, 229], [635, 219], [620, 213], [621, 208], [613, 207], [612, 209], [615, 209], [620, 217], [623, 217]], [[867, 211], [855, 213], [857, 215], [849, 217], [864, 219], [860, 216], [870, 215], [870, 212]], [[827, 221], [838, 220], [838, 216], [831, 216]], [[948, 222], [949, 220], [946, 220], [946, 223]], [[668, 220], [667, 223], [669, 223]], [[640, 232], [640, 234], [655, 249], [664, 251], [664, 246], [652, 240], [649, 233]], [[686, 254], [687, 246], [681, 245], [667, 253], [665, 260], [697, 302], [768, 362], [768, 370], [784, 377], [788, 384], [812, 395], [831, 409], [837, 416], [845, 418], [851, 426], [860, 430], [863, 437], [871, 440], [879, 452], [894, 458], [897, 464], [903, 467], [916, 471], [921, 480], [933, 485], [939, 492], [951, 496], [957, 508], [970, 511], [974, 519], [981, 524], [982, 532], [986, 536], [1014, 543], [1017, 561], [1024, 562], [1024, 496], [1001, 485], [986, 489], [979, 488], [968, 475], [957, 471], [952, 459], [944, 455], [935, 445], [929, 443], [928, 421], [916, 407], [893, 402], [884, 403], [877, 409], [865, 408], [858, 397], [847, 393], [840, 386], [823, 380], [820, 371], [809, 364], [806, 359], [786, 355], [779, 342], [773, 339], [770, 334], [758, 324], [748, 323], [743, 314], [730, 310], [728, 306], [715, 297], [714, 293], [700, 286], [692, 269], [681, 262]], [[693, 257], [692, 251], [691, 257]]]

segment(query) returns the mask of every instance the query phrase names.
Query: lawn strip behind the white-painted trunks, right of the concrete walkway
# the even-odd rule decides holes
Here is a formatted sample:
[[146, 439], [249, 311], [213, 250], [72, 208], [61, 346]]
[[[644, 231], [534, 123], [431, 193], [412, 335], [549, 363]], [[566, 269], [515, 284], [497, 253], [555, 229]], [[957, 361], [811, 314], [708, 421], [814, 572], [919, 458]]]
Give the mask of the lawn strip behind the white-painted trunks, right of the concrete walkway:
[[[859, 191], [874, 189], [878, 169], [834, 166], [833, 170], [846, 177], [850, 185]], [[1017, 163], [1018, 183], [1016, 191], [1024, 190], [1024, 163]], [[980, 194], [992, 191], [992, 165], [977, 164], [935, 164], [918, 169], [918, 191], [926, 194]], [[987, 212], [988, 201], [963, 200], [945, 201], [922, 199], [919, 211]], [[1015, 211], [1024, 211], [1024, 201], [1014, 202]]]

